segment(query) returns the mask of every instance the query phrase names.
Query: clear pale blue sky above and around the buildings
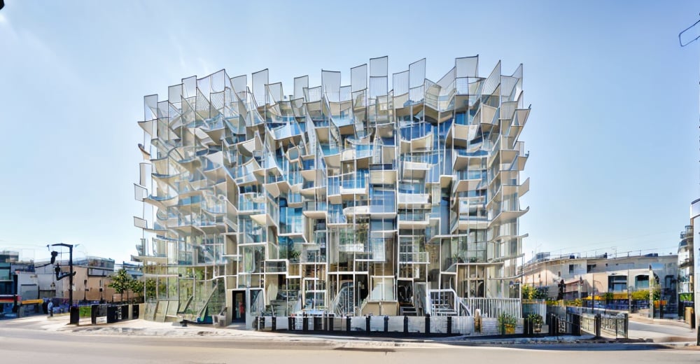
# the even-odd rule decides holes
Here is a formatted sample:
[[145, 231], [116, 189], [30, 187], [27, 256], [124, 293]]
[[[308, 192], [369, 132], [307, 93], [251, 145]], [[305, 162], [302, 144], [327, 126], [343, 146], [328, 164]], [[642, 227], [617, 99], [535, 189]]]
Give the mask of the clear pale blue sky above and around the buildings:
[[[696, 1], [27, 1], [0, 10], [0, 250], [129, 260], [143, 97], [220, 69], [524, 64], [523, 251], [675, 253], [700, 197]], [[630, 6], [633, 4], [633, 6]], [[250, 80], [250, 77], [248, 77]]]

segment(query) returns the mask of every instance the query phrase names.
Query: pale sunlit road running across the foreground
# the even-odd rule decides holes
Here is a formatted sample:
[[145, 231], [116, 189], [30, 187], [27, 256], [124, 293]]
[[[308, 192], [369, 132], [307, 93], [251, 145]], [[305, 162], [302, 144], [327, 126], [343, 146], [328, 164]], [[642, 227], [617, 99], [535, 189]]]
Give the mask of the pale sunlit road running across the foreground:
[[700, 352], [631, 344], [474, 347], [85, 335], [0, 326], [0, 363], [698, 363]]

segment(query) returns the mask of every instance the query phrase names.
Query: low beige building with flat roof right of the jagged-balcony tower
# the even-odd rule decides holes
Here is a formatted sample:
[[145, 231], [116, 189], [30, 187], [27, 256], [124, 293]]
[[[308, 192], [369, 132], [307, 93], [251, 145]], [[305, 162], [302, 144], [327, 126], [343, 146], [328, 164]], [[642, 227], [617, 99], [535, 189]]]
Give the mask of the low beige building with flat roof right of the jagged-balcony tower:
[[649, 290], [650, 285], [658, 284], [661, 300], [675, 305], [677, 274], [678, 255], [611, 256], [605, 253], [589, 258], [567, 254], [546, 255], [546, 258], [528, 263], [523, 269], [523, 281], [527, 286], [547, 288], [552, 299], [558, 295], [559, 283], [563, 281], [565, 300], [600, 296], [605, 292], [614, 293], [616, 299], [624, 299], [633, 291]]

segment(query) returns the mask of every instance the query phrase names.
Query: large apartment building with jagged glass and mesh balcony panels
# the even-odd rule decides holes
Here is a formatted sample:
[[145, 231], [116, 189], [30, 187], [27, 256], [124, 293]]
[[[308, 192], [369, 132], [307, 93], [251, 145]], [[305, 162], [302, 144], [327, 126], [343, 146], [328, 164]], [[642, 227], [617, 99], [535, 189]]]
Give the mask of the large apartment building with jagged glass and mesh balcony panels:
[[[184, 78], [144, 99], [134, 224], [146, 316], [437, 314], [519, 297], [522, 66], [388, 58], [291, 92], [267, 69]], [[287, 90], [289, 91], [289, 90]], [[456, 307], [451, 307], [455, 309]]]

